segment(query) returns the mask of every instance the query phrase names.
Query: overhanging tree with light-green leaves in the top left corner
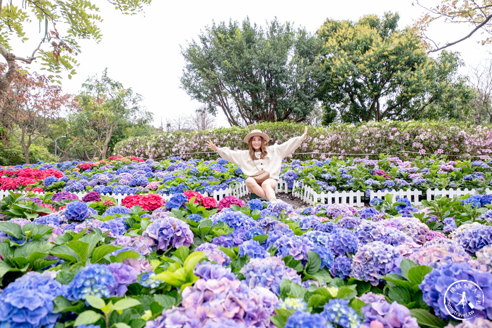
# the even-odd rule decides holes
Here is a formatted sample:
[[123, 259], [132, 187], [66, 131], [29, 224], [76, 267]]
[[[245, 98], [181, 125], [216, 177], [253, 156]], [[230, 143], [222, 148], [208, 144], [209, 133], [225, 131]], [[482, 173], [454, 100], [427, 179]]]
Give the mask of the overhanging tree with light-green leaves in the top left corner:
[[[30, 64], [39, 58], [45, 68], [55, 74], [52, 79], [60, 79], [62, 70], [69, 72], [68, 78], [75, 74], [77, 66], [75, 57], [81, 52], [79, 40], [101, 40], [102, 34], [98, 23], [102, 18], [99, 8], [91, 0], [23, 0], [22, 6], [12, 1], [0, 0], [0, 52], [8, 64], [8, 70], [0, 76], [0, 113], [2, 112], [7, 91], [18, 74], [18, 62]], [[17, 1], [19, 3], [19, 1]], [[124, 14], [136, 14], [151, 0], [108, 0]], [[44, 27], [42, 37], [32, 46], [33, 52], [28, 57], [14, 55], [11, 39], [29, 41], [26, 32], [31, 22]], [[28, 34], [29, 35], [29, 34]]]

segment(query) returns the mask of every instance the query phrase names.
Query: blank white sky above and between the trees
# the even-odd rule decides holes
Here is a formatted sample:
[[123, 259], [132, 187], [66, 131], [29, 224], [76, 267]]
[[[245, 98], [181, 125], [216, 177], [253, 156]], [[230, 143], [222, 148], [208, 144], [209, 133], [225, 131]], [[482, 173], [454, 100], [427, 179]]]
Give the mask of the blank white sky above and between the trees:
[[[434, 0], [423, 0], [425, 4], [435, 4]], [[413, 0], [249, 0], [242, 2], [209, 1], [164, 1], [154, 0], [146, 8], [145, 14], [123, 15], [107, 1], [94, 0], [101, 5], [100, 16], [104, 22], [100, 25], [102, 41], [82, 41], [82, 53], [77, 56], [80, 66], [71, 79], [63, 79], [63, 89], [68, 93], [77, 93], [88, 76], [100, 75], [105, 67], [108, 75], [132, 88], [144, 96], [143, 105], [154, 113], [154, 125], [160, 126], [163, 118], [175, 115], [189, 115], [200, 107], [200, 103], [180, 89], [180, 77], [184, 68], [184, 59], [180, 45], [186, 47], [187, 41], [197, 39], [200, 30], [215, 22], [230, 18], [242, 22], [249, 16], [251, 23], [265, 26], [266, 21], [277, 17], [279, 22], [290, 21], [295, 27], [305, 27], [314, 33], [327, 18], [337, 20], [358, 20], [366, 14], [381, 16], [386, 11], [400, 14], [399, 27], [411, 25], [423, 9], [413, 6]], [[460, 28], [441, 24], [430, 31], [430, 36], [444, 44], [466, 35], [469, 28]], [[29, 56], [37, 46], [38, 26], [31, 39], [22, 46], [16, 46], [14, 53]], [[44, 32], [44, 31], [43, 31]], [[39, 35], [41, 38], [42, 35]], [[461, 42], [449, 48], [461, 52], [461, 58], [469, 66], [476, 66], [480, 60], [490, 57], [490, 46], [478, 45], [477, 37]], [[38, 65], [32, 64], [31, 70]], [[42, 71], [38, 71], [42, 72]], [[461, 73], [467, 74], [468, 68]], [[219, 109], [216, 126], [228, 126]]]

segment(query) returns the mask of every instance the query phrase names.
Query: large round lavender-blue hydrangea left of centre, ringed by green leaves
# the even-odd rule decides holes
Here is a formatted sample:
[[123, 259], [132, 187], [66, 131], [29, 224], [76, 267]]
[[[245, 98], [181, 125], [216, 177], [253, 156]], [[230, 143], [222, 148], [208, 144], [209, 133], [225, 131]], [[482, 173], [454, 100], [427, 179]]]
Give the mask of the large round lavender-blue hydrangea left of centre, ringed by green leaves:
[[171, 216], [157, 219], [149, 224], [143, 236], [154, 239], [156, 248], [164, 251], [168, 249], [169, 245], [178, 248], [183, 245], [188, 247], [193, 243], [193, 233], [189, 226]]

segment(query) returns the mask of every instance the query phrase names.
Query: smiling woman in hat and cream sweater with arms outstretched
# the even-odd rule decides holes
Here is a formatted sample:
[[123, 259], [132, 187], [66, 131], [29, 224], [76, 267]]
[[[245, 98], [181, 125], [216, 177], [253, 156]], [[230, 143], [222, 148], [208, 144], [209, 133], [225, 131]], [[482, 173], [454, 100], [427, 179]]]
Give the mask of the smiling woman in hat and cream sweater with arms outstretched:
[[[216, 151], [223, 159], [241, 168], [248, 177], [246, 179], [246, 187], [249, 192], [255, 193], [270, 202], [277, 202], [275, 189], [277, 188], [282, 159], [301, 146], [306, 139], [306, 135], [307, 127], [300, 137], [291, 138], [281, 145], [268, 146], [270, 137], [260, 130], [252, 130], [244, 139], [249, 146], [248, 150], [231, 150], [226, 147], [217, 148], [211, 140], [207, 141], [207, 146]], [[255, 179], [251, 178], [251, 175], [260, 170], [269, 172], [270, 179], [258, 184]]]

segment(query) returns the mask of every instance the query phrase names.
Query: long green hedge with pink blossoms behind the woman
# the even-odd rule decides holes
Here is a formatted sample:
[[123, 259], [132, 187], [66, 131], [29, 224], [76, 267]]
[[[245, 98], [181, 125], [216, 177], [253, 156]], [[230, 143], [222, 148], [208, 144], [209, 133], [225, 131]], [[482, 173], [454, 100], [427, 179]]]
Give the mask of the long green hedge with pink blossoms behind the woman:
[[[171, 155], [186, 158], [215, 158], [206, 152], [205, 142], [211, 139], [217, 147], [246, 149], [244, 136], [252, 129], [267, 133], [270, 144], [283, 143], [303, 133], [304, 125], [286, 122], [259, 123], [247, 127], [218, 128], [206, 131], [167, 132], [150, 137], [121, 141], [115, 152], [123, 156], [136, 155], [160, 159]], [[360, 124], [334, 123], [326, 127], [309, 126], [307, 140], [294, 158], [325, 158], [328, 154], [389, 153], [400, 157], [417, 155], [411, 152], [448, 154], [454, 156], [486, 155], [492, 152], [492, 128], [454, 121], [381, 121]], [[374, 157], [375, 157], [374, 156]]]

